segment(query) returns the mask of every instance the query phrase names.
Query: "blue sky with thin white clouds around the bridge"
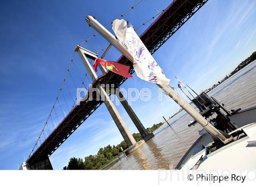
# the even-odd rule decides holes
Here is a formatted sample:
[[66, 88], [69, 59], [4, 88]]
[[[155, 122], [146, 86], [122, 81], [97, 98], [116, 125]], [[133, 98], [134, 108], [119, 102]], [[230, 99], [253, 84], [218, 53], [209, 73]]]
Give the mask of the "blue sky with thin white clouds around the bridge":
[[[96, 16], [107, 25], [137, 0], [85, 1], [45, 0], [1, 2], [0, 6], [0, 169], [17, 169], [30, 153], [46, 121], [60, 84], [79, 44], [91, 34], [92, 27], [85, 22], [86, 15]], [[154, 16], [170, 4], [170, 0], [143, 0], [124, 16], [134, 27]], [[209, 0], [157, 52], [159, 63], [171, 83], [174, 76], [195, 90], [208, 88], [232, 71], [238, 63], [256, 51], [256, 1]], [[151, 21], [152, 22], [152, 21]], [[140, 35], [147, 26], [141, 27]], [[108, 28], [111, 30], [111, 27]], [[96, 36], [83, 47], [96, 52], [107, 42]], [[100, 54], [101, 55], [101, 54]], [[112, 48], [106, 59], [116, 60], [120, 53]], [[76, 85], [85, 68], [78, 55], [74, 62], [78, 73], [71, 67]], [[80, 74], [80, 76], [79, 76]], [[98, 73], [99, 74], [99, 73]], [[86, 84], [90, 83], [86, 79]], [[71, 95], [76, 87], [67, 79]], [[152, 86], [155, 86], [152, 84]], [[122, 88], [150, 88], [152, 99], [132, 103], [145, 127], [170, 116], [179, 107], [174, 102], [157, 100], [157, 92], [141, 81], [131, 78]], [[67, 87], [64, 95], [72, 103]], [[62, 99], [62, 100], [61, 100]], [[65, 108], [64, 99], [60, 105]], [[157, 108], [157, 111], [155, 110]], [[120, 114], [132, 132], [138, 132], [122, 106]], [[59, 119], [61, 111], [59, 112]], [[53, 119], [54, 121], [57, 119]], [[57, 122], [56, 122], [57, 123]], [[53, 127], [49, 127], [50, 130]], [[62, 169], [72, 156], [96, 154], [100, 147], [122, 141], [104, 104], [50, 157], [54, 169]]]

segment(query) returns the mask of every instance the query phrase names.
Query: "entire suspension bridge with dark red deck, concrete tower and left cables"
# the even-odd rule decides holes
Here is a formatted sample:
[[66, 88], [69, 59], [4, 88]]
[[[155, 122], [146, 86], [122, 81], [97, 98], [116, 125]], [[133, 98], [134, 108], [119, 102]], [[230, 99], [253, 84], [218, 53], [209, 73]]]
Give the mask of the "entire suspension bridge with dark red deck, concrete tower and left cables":
[[[190, 17], [192, 17], [197, 10], [199, 10], [208, 0], [174, 0], [172, 3], [163, 11], [161, 11], [158, 17], [152, 17], [155, 21], [144, 31], [144, 33], [140, 36], [142, 42], [144, 42], [145, 46], [148, 48], [149, 52], [153, 54], [158, 50]], [[151, 18], [151, 19], [152, 19]], [[55, 110], [55, 104], [59, 104], [59, 97], [63, 94], [62, 88], [64, 86], [64, 82], [68, 76], [69, 68], [73, 62], [73, 58], [75, 53], [78, 53], [86, 70], [87, 74], [91, 77], [92, 88], [97, 88], [98, 92], [92, 92], [92, 98], [89, 97], [85, 100], [81, 100], [78, 104], [73, 104], [72, 109], [70, 109], [68, 114], [65, 114], [65, 110], [62, 110], [64, 118], [59, 122], [59, 125], [56, 125], [55, 120], [53, 119], [53, 112]], [[94, 72], [93, 68], [89, 60], [94, 60], [98, 57], [97, 53], [91, 52], [80, 45], [75, 47], [75, 52], [72, 57], [72, 60], [69, 64], [68, 71], [65, 75], [64, 82], [61, 85], [59, 90], [59, 94], [53, 104], [53, 108], [51, 113], [48, 116], [46, 124], [43, 127], [43, 130], [37, 139], [36, 144], [31, 150], [30, 155], [27, 160], [22, 163], [20, 169], [32, 169], [32, 170], [40, 170], [40, 169], [53, 169], [49, 156], [53, 154], [55, 150], [65, 141], [67, 138], [102, 104], [104, 103], [107, 107], [107, 110], [112, 116], [115, 124], [117, 125], [118, 130], [120, 131], [123, 139], [127, 143], [130, 149], [135, 150], [138, 145], [134, 140], [130, 130], [127, 125], [124, 123], [121, 115], [117, 111], [115, 105], [112, 103], [109, 95], [116, 94], [111, 93], [109, 90], [106, 90], [105, 86], [102, 85], [112, 85], [112, 88], [119, 88], [122, 83], [127, 78], [117, 75], [111, 71], [106, 71], [105, 68], [100, 66], [101, 72], [103, 73], [101, 76], [97, 76]], [[134, 73], [134, 69], [132, 64], [128, 61], [128, 59], [124, 56], [121, 56], [118, 60], [118, 63], [122, 63], [130, 66], [130, 74]], [[70, 75], [71, 76], [71, 75]], [[72, 77], [71, 77], [72, 78]], [[72, 78], [73, 80], [73, 78]], [[84, 84], [85, 78], [82, 81]], [[78, 87], [76, 87], [78, 88]], [[80, 87], [81, 88], [81, 87]], [[89, 92], [89, 91], [88, 91]], [[105, 99], [96, 99], [97, 93], [100, 94], [101, 97]], [[89, 94], [89, 93], [88, 93]], [[64, 96], [63, 96], [64, 97]], [[123, 98], [121, 92], [117, 94], [117, 98], [120, 99], [121, 104], [124, 109], [128, 113], [128, 116], [132, 119], [134, 125], [139, 130], [139, 133], [144, 137], [145, 140], [148, 140], [152, 135], [148, 134], [145, 130], [144, 126], [140, 122], [138, 116], [135, 114], [131, 106], [128, 102]], [[64, 98], [66, 101], [66, 99]], [[76, 100], [76, 99], [75, 99]], [[56, 115], [58, 119], [58, 116]], [[56, 120], [57, 120], [56, 119]], [[48, 124], [52, 121], [53, 130], [50, 132]], [[59, 121], [59, 119], [58, 119]], [[47, 134], [48, 129], [48, 134]], [[42, 141], [41, 138], [44, 140]], [[141, 144], [140, 144], [141, 145]]]

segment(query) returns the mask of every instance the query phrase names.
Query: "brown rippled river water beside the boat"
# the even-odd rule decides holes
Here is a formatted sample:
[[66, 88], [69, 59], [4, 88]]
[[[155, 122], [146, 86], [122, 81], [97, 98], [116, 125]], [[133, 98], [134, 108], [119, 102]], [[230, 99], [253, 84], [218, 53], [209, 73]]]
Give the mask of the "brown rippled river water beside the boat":
[[[247, 109], [256, 105], [256, 61], [243, 68], [231, 78], [211, 90], [220, 103], [230, 109]], [[188, 127], [192, 118], [181, 111], [154, 132], [155, 136], [136, 151], [122, 158], [109, 169], [140, 170], [140, 169], [173, 169], [182, 156], [199, 137], [200, 125]]]

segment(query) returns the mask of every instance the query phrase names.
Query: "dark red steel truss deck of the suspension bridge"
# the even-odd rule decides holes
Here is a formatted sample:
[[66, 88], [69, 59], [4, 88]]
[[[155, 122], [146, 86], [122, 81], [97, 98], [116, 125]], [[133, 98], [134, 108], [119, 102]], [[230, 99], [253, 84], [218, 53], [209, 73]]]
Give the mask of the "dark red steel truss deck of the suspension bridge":
[[[174, 0], [160, 16], [140, 36], [142, 42], [153, 54], [159, 49], [186, 21], [191, 18], [208, 0]], [[131, 62], [121, 56], [118, 63], [131, 66]], [[134, 73], [133, 66], [130, 73]], [[108, 71], [94, 83], [114, 84], [118, 88], [126, 78]], [[94, 97], [94, 96], [93, 96]], [[27, 159], [32, 166], [48, 159], [50, 155], [102, 104], [102, 101], [86, 99], [76, 105], [59, 125], [48, 135], [36, 151]]]

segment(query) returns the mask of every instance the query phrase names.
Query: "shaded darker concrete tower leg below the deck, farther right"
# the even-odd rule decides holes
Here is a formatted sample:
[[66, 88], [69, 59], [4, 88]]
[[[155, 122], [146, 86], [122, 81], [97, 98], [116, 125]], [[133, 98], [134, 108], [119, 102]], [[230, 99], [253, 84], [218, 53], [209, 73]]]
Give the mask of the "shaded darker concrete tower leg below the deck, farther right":
[[123, 105], [123, 108], [126, 110], [127, 114], [132, 119], [134, 125], [139, 130], [139, 133], [142, 135], [142, 137], [149, 135], [148, 131], [142, 125], [138, 116], [133, 111], [132, 107], [128, 104], [127, 100], [123, 97], [123, 94], [121, 92], [118, 92], [116, 95], [117, 95], [117, 98], [120, 100], [121, 104]]

